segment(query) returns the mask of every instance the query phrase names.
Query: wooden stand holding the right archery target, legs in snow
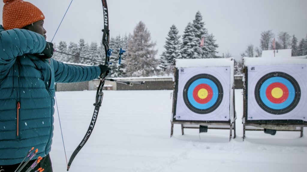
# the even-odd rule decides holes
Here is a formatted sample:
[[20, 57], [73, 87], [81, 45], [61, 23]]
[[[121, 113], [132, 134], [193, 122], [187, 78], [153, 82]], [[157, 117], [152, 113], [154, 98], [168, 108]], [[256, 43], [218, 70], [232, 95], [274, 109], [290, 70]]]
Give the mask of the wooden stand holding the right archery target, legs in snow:
[[243, 141], [246, 138], [245, 131], [264, 131], [271, 135], [275, 135], [276, 131], [294, 131], [300, 132], [300, 137], [303, 136], [303, 129], [307, 127], [307, 122], [303, 120], [248, 120], [247, 113], [247, 97], [248, 97], [248, 69], [243, 68], [245, 75], [243, 87]]

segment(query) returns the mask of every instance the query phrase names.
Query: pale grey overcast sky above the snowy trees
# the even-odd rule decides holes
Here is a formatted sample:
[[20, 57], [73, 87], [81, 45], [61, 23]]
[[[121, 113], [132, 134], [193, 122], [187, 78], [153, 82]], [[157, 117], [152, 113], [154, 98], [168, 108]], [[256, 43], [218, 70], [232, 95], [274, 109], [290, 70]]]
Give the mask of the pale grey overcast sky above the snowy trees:
[[[29, 0], [45, 15], [47, 41], [56, 28], [71, 0]], [[3, 1], [0, 3], [3, 8]], [[146, 24], [151, 38], [162, 54], [165, 38], [172, 24], [182, 35], [197, 11], [203, 16], [205, 28], [215, 36], [218, 55], [229, 51], [239, 57], [248, 44], [259, 47], [262, 31], [288, 32], [300, 41], [307, 35], [307, 0], [107, 0], [110, 36], [133, 33], [139, 21]], [[2, 13], [1, 13], [2, 15]], [[2, 24], [2, 17], [1, 17]], [[103, 28], [103, 9], [100, 0], [73, 0], [53, 42], [61, 40], [78, 43], [100, 43]]]

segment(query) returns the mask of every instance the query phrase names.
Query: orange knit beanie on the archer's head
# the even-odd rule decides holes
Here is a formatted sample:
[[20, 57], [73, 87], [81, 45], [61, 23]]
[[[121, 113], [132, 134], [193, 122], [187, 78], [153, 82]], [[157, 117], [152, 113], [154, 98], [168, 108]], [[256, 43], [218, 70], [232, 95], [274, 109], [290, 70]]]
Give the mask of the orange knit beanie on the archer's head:
[[3, 0], [3, 28], [23, 28], [31, 23], [44, 20], [45, 16], [36, 6], [23, 0]]

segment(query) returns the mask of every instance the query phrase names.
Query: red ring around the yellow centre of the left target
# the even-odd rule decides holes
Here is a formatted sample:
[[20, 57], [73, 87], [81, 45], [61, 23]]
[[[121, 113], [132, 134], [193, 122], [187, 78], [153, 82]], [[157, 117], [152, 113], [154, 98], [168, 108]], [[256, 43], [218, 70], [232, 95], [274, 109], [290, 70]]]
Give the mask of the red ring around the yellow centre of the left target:
[[[201, 89], [205, 89], [208, 92], [208, 95], [206, 95], [204, 98], [200, 97], [199, 95], [200, 94], [199, 91]], [[208, 103], [212, 99], [212, 96], [213, 96], [213, 91], [208, 84], [199, 84], [193, 90], [193, 98], [197, 103], [200, 104]]]

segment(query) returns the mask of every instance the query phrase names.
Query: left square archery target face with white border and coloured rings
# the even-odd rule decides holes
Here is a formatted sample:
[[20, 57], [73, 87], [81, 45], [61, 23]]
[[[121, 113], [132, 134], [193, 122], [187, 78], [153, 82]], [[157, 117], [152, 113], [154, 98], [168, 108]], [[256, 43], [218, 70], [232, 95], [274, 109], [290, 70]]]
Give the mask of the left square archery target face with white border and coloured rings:
[[228, 121], [230, 67], [180, 68], [177, 120]]

